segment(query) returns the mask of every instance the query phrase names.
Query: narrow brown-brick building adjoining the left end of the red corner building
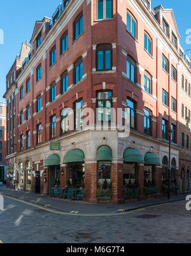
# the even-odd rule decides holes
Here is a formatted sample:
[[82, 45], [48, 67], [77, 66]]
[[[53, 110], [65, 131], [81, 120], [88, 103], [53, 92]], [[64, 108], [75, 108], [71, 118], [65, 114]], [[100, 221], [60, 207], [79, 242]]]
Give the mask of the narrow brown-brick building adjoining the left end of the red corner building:
[[22, 43], [20, 52], [17, 54], [10, 71], [6, 75], [6, 185], [13, 187], [15, 180], [16, 152], [17, 152], [17, 83], [16, 80], [25, 64], [29, 61], [31, 47]]

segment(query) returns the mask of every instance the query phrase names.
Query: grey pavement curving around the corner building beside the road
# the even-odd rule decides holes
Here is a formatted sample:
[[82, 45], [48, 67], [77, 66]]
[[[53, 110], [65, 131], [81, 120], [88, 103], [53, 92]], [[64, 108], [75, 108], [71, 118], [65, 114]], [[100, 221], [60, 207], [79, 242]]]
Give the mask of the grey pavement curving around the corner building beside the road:
[[[191, 193], [191, 192], [190, 192]], [[46, 207], [47, 209], [53, 209], [62, 211], [64, 213], [75, 213], [80, 215], [107, 215], [120, 212], [134, 211], [150, 206], [157, 206], [161, 204], [169, 204], [171, 202], [178, 202], [185, 200], [187, 194], [180, 194], [173, 196], [171, 199], [147, 199], [134, 202], [125, 202], [124, 204], [92, 204], [83, 201], [73, 201], [68, 199], [59, 199], [56, 197], [50, 197], [48, 195], [39, 195], [31, 192], [17, 191], [0, 187], [0, 194], [11, 197], [25, 202], [37, 204], [38, 206]]]

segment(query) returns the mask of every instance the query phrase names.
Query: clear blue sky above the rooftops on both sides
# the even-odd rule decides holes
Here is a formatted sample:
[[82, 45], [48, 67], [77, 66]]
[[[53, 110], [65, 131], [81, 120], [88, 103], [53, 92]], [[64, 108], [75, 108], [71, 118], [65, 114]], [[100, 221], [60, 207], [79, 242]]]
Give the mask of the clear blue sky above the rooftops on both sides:
[[[0, 1], [0, 29], [4, 31], [4, 45], [0, 45], [0, 101], [5, 92], [5, 77], [11, 68], [22, 41], [31, 40], [36, 20], [44, 16], [51, 17], [60, 1], [32, 0], [32, 1]], [[32, 4], [31, 4], [32, 3]], [[191, 49], [185, 39], [185, 31], [191, 29], [190, 0], [183, 0], [181, 4], [174, 0], [152, 0], [152, 7], [162, 4], [164, 8], [172, 8], [181, 35], [183, 49]]]

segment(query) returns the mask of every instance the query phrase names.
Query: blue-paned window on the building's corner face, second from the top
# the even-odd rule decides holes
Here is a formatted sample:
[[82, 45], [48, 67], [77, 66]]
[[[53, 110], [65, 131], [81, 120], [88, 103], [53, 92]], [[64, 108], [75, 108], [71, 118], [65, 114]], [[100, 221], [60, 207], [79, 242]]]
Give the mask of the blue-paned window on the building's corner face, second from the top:
[[97, 45], [96, 69], [97, 71], [112, 69], [112, 46], [110, 44]]

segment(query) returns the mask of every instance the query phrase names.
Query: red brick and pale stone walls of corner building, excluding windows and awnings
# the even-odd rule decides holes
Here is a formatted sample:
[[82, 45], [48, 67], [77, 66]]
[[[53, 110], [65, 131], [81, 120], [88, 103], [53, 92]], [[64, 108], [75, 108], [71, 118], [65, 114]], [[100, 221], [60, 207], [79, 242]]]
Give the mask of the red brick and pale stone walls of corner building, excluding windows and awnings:
[[[104, 4], [106, 1], [103, 1]], [[150, 2], [150, 1], [149, 1]], [[111, 203], [124, 202], [124, 174], [128, 172], [124, 167], [124, 151], [127, 148], [139, 151], [143, 159], [147, 153], [153, 153], [160, 160], [160, 166], [154, 166], [153, 180], [158, 188], [157, 196], [162, 196], [162, 163], [168, 156], [168, 140], [162, 133], [162, 125], [166, 120], [166, 130], [175, 127], [174, 142], [171, 145], [171, 159], [175, 161], [176, 181], [180, 186], [179, 150], [181, 117], [181, 95], [179, 86], [183, 69], [190, 76], [190, 67], [185, 59], [180, 57], [180, 35], [174, 21], [172, 10], [158, 6], [154, 10], [145, 6], [145, 1], [112, 1], [112, 17], [110, 19], [98, 19], [97, 1], [70, 0], [63, 11], [59, 13], [59, 19], [44, 18], [36, 22], [31, 38], [31, 47], [24, 52], [30, 58], [26, 66], [23, 66], [15, 80], [17, 89], [15, 92], [16, 125], [14, 165], [15, 170], [20, 172], [18, 166], [25, 166], [29, 162], [31, 168], [31, 191], [35, 192], [36, 175], [40, 176], [40, 192], [47, 194], [52, 184], [51, 167], [46, 166], [48, 156], [57, 154], [60, 158], [60, 186], [67, 186], [69, 177], [69, 165], [64, 163], [66, 154], [73, 149], [80, 149], [85, 155], [83, 160], [85, 174], [85, 200], [97, 202], [97, 150], [101, 146], [111, 149], [112, 160], [110, 188], [113, 196]], [[75, 22], [83, 13], [83, 32], [74, 39]], [[127, 15], [135, 23], [135, 34], [128, 31]], [[169, 35], [166, 36], [163, 28], [163, 20], [168, 22]], [[80, 25], [79, 25], [80, 26]], [[68, 48], [61, 52], [61, 39], [64, 34], [68, 35]], [[172, 33], [176, 36], [176, 46], [172, 41]], [[151, 50], [145, 49], [145, 35], [150, 38]], [[41, 43], [38, 46], [38, 38]], [[97, 47], [111, 49], [110, 70], [98, 70]], [[52, 49], [56, 49], [56, 61], [50, 66]], [[29, 52], [30, 51], [30, 52]], [[167, 59], [167, 70], [162, 68], [163, 56]], [[21, 58], [21, 57], [20, 57]], [[83, 74], [81, 80], [76, 82], [76, 66], [83, 62]], [[129, 79], [127, 73], [127, 60], [131, 61], [136, 72], [134, 79]], [[23, 59], [24, 61], [24, 59]], [[163, 63], [164, 64], [164, 63]], [[38, 68], [41, 66], [41, 77], [38, 79]], [[132, 68], [131, 66], [131, 68]], [[171, 67], [176, 69], [176, 78], [171, 78]], [[132, 72], [132, 71], [131, 71]], [[132, 72], [133, 73], [133, 72]], [[62, 91], [63, 75], [68, 76], [67, 91]], [[150, 91], [145, 90], [145, 76], [150, 77]], [[8, 74], [7, 81], [10, 77]], [[30, 90], [27, 91], [27, 81], [30, 79]], [[56, 93], [52, 100], [52, 87], [56, 87]], [[22, 87], [24, 88], [23, 97]], [[5, 98], [10, 100], [10, 89], [6, 88]], [[113, 109], [125, 110], [127, 99], [134, 103], [135, 126], [130, 130], [129, 136], [122, 138], [117, 130], [68, 130], [62, 134], [62, 110], [74, 109], [76, 102], [83, 100], [82, 108], [91, 108], [96, 113], [97, 93], [111, 91], [111, 105]], [[164, 102], [162, 91], [167, 94], [167, 102]], [[164, 95], [164, 94], [163, 94]], [[189, 97], [189, 95], [188, 95]], [[41, 98], [41, 109], [38, 99]], [[173, 109], [171, 99], [176, 101], [176, 109]], [[30, 107], [30, 117], [27, 116], [27, 107]], [[150, 113], [150, 134], [145, 132], [145, 110]], [[22, 112], [24, 120], [21, 121]], [[9, 115], [9, 112], [8, 112]], [[52, 117], [55, 116], [55, 134], [52, 136]], [[71, 113], [68, 112], [68, 118]], [[85, 119], [85, 117], [83, 117]], [[94, 116], [95, 121], [95, 116]], [[41, 125], [41, 140], [38, 143], [38, 126]], [[188, 129], [190, 131], [190, 129]], [[30, 131], [30, 144], [27, 132]], [[189, 132], [188, 131], [188, 132]], [[191, 135], [190, 135], [191, 137]], [[50, 142], [60, 142], [60, 151], [50, 150]], [[29, 144], [29, 145], [28, 145]], [[9, 145], [9, 144], [8, 144]], [[10, 146], [8, 146], [10, 148]], [[17, 152], [17, 153], [16, 153]], [[13, 153], [13, 152], [12, 152]], [[11, 152], [8, 149], [8, 156]], [[190, 153], [188, 152], [188, 155]], [[13, 162], [13, 158], [10, 162]], [[36, 166], [36, 162], [41, 164]], [[109, 164], [106, 161], [106, 164]], [[136, 163], [137, 164], [137, 163]], [[182, 163], [185, 164], [185, 163]], [[132, 167], [129, 167], [130, 169]], [[141, 188], [139, 199], [145, 198], [144, 186], [146, 172], [152, 167], [146, 167], [143, 163], [137, 166], [137, 182]], [[135, 169], [134, 169], [135, 171]], [[55, 170], [55, 173], [57, 170]], [[55, 174], [57, 175], [57, 174]], [[129, 174], [131, 177], [131, 174]], [[24, 174], [25, 183], [29, 177]], [[134, 180], [127, 178], [127, 180]], [[184, 186], [185, 188], [185, 186]]]

